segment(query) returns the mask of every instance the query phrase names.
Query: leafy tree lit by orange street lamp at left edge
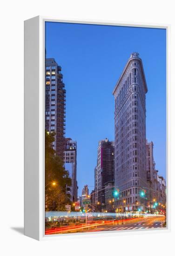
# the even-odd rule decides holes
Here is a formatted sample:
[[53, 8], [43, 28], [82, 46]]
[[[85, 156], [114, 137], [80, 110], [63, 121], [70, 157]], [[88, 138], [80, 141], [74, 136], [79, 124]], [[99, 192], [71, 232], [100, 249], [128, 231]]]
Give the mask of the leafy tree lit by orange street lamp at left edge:
[[66, 187], [71, 186], [71, 178], [64, 168], [64, 162], [52, 147], [55, 133], [45, 132], [45, 202], [46, 210], [64, 210], [71, 203]]

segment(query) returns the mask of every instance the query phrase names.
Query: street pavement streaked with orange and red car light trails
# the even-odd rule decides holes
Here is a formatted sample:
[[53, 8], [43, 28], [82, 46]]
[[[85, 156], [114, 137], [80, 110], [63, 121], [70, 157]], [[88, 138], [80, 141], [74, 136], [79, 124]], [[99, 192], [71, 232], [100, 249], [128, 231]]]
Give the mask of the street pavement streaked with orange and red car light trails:
[[78, 233], [78, 232], [97, 232], [97, 231], [122, 231], [122, 230], [142, 230], [165, 228], [163, 223], [165, 216], [144, 216], [123, 220], [98, 220], [90, 221], [83, 224], [70, 224], [68, 227], [52, 227], [47, 228], [46, 235]]

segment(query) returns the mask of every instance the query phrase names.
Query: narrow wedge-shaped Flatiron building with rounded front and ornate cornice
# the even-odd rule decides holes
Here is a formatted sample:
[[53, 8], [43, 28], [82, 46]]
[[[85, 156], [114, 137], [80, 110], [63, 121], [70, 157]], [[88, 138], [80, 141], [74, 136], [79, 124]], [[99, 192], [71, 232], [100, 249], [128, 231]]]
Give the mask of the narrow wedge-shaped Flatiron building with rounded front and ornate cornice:
[[113, 91], [115, 100], [115, 200], [118, 211], [144, 209], [147, 187], [146, 106], [148, 92], [141, 58], [132, 53]]

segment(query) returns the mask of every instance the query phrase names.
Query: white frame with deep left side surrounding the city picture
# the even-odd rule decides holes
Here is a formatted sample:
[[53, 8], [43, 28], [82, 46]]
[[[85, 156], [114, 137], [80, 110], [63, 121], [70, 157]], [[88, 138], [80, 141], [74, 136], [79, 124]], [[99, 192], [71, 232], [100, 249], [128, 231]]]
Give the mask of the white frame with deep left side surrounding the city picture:
[[[167, 30], [167, 229], [45, 236], [45, 22], [67, 22]], [[104, 20], [57, 20], [37, 16], [24, 22], [24, 234], [37, 240], [67, 236], [118, 236], [170, 231], [170, 25]], [[32, 74], [32, 75], [31, 75]]]

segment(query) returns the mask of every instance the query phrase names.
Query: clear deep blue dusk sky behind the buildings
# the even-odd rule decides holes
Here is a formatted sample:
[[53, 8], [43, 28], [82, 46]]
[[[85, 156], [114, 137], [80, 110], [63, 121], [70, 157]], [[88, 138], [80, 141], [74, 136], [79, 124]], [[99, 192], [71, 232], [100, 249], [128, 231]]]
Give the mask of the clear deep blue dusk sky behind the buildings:
[[62, 67], [66, 137], [77, 141], [78, 195], [94, 189], [98, 141], [114, 140], [112, 91], [132, 52], [143, 62], [148, 85], [146, 134], [166, 177], [166, 30], [46, 22], [47, 58]]

